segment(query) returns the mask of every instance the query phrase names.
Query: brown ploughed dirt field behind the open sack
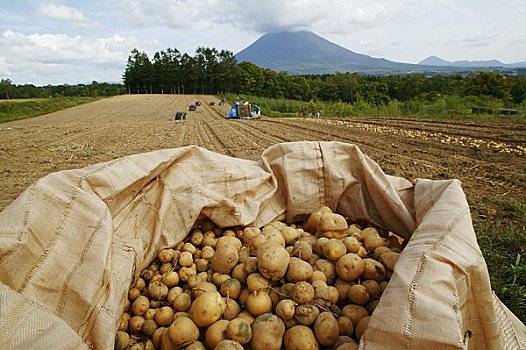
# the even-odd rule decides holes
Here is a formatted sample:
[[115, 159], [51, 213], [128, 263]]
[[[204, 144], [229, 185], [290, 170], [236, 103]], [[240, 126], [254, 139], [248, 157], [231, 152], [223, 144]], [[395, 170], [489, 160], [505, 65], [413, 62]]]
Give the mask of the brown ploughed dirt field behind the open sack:
[[[176, 111], [202, 101], [185, 121]], [[215, 101], [216, 106], [208, 103]], [[409, 180], [457, 178], [474, 215], [502, 220], [497, 198], [526, 198], [526, 126], [506, 121], [409, 118], [226, 120], [210, 96], [118, 96], [0, 124], [0, 210], [38, 178], [129, 154], [198, 145], [257, 159], [286, 141], [358, 145], [384, 171]]]

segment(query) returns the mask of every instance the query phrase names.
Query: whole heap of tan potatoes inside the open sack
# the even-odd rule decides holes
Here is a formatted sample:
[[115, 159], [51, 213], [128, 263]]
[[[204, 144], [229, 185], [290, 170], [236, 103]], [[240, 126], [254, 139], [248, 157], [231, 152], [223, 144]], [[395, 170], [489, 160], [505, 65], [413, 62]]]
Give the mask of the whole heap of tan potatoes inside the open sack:
[[321, 207], [301, 224], [206, 221], [131, 286], [116, 349], [358, 349], [401, 239]]

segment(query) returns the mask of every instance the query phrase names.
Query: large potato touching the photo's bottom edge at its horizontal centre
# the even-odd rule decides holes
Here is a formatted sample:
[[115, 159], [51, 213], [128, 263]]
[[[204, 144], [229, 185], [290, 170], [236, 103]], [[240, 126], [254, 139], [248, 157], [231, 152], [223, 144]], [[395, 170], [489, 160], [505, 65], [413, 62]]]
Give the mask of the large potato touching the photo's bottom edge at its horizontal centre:
[[280, 350], [285, 334], [285, 324], [276, 315], [258, 316], [252, 324], [251, 350]]

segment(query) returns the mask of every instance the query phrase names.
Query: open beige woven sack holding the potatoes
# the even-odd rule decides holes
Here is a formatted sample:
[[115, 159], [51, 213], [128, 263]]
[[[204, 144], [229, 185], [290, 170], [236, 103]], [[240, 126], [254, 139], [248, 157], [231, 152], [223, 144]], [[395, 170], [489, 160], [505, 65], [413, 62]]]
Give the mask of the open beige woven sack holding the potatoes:
[[456, 180], [385, 175], [353, 145], [278, 144], [258, 162], [197, 147], [50, 174], [0, 213], [2, 349], [112, 349], [129, 285], [196, 220], [303, 219], [320, 205], [411, 237], [361, 349], [520, 349]]

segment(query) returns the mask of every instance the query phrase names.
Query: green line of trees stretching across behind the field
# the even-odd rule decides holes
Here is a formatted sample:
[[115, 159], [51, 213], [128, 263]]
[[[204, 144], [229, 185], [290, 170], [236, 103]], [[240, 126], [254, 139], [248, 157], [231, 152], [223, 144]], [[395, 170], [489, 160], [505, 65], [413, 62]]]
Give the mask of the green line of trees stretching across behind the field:
[[42, 86], [0, 80], [0, 99], [117, 94], [240, 94], [299, 101], [340, 101], [386, 105], [392, 101], [436, 101], [446, 96], [526, 106], [526, 70], [516, 75], [475, 72], [465, 75], [366, 75], [334, 73], [289, 75], [249, 62], [237, 62], [228, 50], [199, 47], [193, 56], [175, 48], [130, 52], [123, 84]]

